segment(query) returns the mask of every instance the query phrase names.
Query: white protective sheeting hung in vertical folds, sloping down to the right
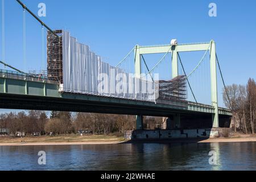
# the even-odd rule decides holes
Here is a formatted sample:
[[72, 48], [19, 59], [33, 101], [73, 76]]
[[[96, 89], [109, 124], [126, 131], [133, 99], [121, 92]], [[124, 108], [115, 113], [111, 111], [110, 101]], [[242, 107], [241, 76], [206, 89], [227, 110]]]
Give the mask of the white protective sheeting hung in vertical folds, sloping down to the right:
[[135, 78], [123, 69], [101, 61], [101, 57], [63, 31], [63, 91], [155, 102], [155, 84]]

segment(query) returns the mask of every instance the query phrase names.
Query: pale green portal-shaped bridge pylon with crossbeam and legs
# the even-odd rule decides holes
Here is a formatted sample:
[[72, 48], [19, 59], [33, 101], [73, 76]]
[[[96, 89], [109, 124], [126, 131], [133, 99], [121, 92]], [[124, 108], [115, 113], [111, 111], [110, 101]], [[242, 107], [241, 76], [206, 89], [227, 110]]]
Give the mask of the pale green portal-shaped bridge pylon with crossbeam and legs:
[[[170, 48], [171, 47], [171, 48]], [[211, 84], [211, 100], [214, 107], [214, 114], [212, 115], [212, 126], [219, 127], [218, 122], [218, 94], [217, 94], [217, 67], [216, 67], [216, 44], [214, 40], [209, 43], [198, 44], [181, 44], [176, 46], [139, 46], [134, 49], [135, 55], [135, 75], [141, 77], [141, 55], [155, 54], [155, 53], [171, 53], [172, 54], [172, 78], [179, 76], [178, 69], [178, 52], [192, 52], [192, 51], [209, 51], [210, 52], [210, 84]], [[138, 122], [139, 120], [137, 120]]]

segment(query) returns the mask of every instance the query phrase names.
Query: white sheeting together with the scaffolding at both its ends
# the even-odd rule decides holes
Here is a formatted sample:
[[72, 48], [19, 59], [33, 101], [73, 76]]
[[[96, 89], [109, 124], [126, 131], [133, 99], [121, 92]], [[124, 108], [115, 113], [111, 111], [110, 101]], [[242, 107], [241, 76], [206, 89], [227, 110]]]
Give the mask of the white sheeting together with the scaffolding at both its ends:
[[172, 80], [159, 80], [159, 74], [138, 77], [129, 73], [127, 67], [105, 63], [69, 32], [56, 30], [55, 33], [60, 37], [47, 34], [47, 72], [49, 80], [59, 81], [61, 92], [187, 105], [185, 76]]

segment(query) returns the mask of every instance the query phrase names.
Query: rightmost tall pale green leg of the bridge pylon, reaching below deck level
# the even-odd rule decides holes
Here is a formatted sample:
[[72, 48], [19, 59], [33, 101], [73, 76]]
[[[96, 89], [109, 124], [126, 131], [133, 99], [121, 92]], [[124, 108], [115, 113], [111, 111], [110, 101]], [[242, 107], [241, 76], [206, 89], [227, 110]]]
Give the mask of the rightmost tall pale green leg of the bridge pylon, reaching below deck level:
[[212, 115], [213, 127], [218, 127], [218, 94], [217, 94], [217, 71], [216, 71], [216, 46], [212, 40], [210, 45], [210, 83], [212, 94], [212, 106], [214, 114]]

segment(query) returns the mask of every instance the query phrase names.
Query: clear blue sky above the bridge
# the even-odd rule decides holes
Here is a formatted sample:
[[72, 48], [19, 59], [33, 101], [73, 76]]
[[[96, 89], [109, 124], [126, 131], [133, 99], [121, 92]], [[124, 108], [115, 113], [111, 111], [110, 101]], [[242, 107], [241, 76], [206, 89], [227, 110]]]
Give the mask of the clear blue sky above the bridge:
[[[70, 31], [79, 42], [88, 44], [112, 65], [117, 64], [135, 44], [169, 44], [172, 38], [179, 43], [209, 42], [214, 39], [227, 85], [245, 84], [249, 77], [256, 79], [255, 0], [22, 2], [36, 14], [38, 4], [45, 3], [46, 17], [41, 19], [49, 27]], [[211, 2], [217, 5], [217, 17], [208, 15]], [[26, 15], [27, 60], [24, 64], [22, 24], [22, 7], [15, 0], [6, 0], [6, 62], [24, 71], [40, 69], [41, 26]], [[2, 58], [2, 53], [0, 55]], [[43, 64], [46, 65], [46, 60]]]

